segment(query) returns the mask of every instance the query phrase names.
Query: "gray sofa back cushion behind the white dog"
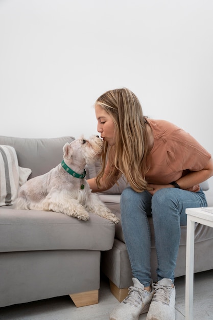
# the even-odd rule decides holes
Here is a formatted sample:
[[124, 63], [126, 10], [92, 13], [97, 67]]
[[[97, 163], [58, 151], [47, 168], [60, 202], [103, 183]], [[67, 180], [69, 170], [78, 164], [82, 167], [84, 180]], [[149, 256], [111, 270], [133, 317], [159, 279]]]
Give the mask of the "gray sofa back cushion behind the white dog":
[[70, 143], [73, 136], [62, 136], [61, 138], [13, 138], [0, 136], [0, 145], [14, 147], [18, 165], [30, 168], [32, 173], [29, 178], [44, 174], [61, 163], [63, 158], [63, 146]]

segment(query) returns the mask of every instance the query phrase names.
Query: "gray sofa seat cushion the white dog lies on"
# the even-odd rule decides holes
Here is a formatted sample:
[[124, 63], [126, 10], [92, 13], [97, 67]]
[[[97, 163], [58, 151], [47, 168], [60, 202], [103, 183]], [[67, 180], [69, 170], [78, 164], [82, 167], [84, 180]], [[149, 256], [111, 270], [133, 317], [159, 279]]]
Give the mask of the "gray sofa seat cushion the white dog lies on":
[[0, 252], [109, 250], [114, 234], [114, 223], [95, 214], [80, 221], [57, 212], [0, 208]]

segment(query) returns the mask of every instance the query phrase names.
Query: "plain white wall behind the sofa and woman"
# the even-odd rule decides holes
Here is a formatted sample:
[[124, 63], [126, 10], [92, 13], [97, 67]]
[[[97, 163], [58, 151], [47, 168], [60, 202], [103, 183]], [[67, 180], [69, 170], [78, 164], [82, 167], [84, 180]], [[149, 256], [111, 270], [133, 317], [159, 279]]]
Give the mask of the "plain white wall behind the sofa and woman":
[[1, 0], [0, 134], [87, 137], [96, 98], [126, 86], [213, 154], [212, 14], [212, 0]]

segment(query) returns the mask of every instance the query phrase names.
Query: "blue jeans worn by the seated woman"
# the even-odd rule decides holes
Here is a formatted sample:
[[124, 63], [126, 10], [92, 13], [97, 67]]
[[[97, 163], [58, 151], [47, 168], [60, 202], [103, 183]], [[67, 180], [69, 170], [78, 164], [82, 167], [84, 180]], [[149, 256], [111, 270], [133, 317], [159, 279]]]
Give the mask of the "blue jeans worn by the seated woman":
[[157, 252], [157, 281], [172, 279], [180, 243], [180, 225], [186, 225], [186, 208], [206, 207], [202, 190], [191, 192], [164, 188], [152, 196], [127, 187], [121, 195], [121, 222], [132, 275], [144, 286], [151, 284], [151, 235], [148, 216], [152, 216]]

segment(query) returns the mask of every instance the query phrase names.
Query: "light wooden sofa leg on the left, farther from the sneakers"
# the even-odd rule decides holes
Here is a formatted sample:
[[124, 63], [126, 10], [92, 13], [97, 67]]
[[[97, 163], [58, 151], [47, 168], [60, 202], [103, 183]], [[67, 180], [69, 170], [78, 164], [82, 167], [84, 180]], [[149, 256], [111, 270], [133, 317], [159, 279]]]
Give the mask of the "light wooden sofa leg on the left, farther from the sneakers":
[[99, 303], [99, 290], [69, 294], [76, 307], [84, 307]]

